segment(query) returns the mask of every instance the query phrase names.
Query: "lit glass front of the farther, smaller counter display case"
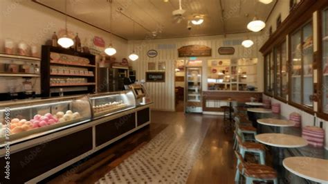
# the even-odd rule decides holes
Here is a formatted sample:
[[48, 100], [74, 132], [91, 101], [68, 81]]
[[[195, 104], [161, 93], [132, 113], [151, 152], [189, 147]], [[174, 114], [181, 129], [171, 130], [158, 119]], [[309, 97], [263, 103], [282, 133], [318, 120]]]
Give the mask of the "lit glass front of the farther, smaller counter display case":
[[136, 98], [132, 91], [100, 93], [89, 95], [93, 117], [100, 118], [136, 107]]

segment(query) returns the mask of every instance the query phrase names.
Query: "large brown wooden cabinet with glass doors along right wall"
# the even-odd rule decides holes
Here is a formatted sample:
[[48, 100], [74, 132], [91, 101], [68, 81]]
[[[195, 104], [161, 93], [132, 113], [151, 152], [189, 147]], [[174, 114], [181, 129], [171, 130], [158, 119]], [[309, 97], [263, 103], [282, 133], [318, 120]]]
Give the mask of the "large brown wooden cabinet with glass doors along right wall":
[[328, 1], [302, 0], [260, 48], [264, 93], [326, 120], [327, 25]]

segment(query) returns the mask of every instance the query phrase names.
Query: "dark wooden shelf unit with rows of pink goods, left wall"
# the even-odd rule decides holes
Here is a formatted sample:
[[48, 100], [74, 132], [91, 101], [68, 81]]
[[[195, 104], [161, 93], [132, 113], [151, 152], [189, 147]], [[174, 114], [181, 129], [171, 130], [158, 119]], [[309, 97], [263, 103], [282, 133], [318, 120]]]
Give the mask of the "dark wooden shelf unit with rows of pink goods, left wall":
[[[60, 55], [60, 59], [52, 59], [51, 53], [57, 53]], [[63, 55], [69, 55], [73, 57], [82, 57], [89, 60], [89, 64], [80, 64], [69, 59], [62, 59]], [[82, 71], [92, 72], [93, 75], [78, 75], [74, 73], [51, 73], [51, 66], [53, 67], [74, 67], [80, 68]], [[82, 93], [94, 93], [96, 89], [96, 73], [97, 68], [95, 67], [95, 55], [89, 53], [80, 53], [71, 49], [65, 49], [60, 47], [53, 46], [42, 46], [42, 63], [41, 63], [41, 89], [42, 96], [57, 96], [60, 95], [60, 92], [64, 95], [73, 95], [73, 94], [82, 94]], [[85, 83], [65, 83], [65, 84], [51, 84], [51, 79], [62, 79], [66, 80], [69, 78], [82, 77], [86, 81]], [[58, 88], [64, 86], [62, 90]], [[79, 88], [77, 88], [79, 87]]]

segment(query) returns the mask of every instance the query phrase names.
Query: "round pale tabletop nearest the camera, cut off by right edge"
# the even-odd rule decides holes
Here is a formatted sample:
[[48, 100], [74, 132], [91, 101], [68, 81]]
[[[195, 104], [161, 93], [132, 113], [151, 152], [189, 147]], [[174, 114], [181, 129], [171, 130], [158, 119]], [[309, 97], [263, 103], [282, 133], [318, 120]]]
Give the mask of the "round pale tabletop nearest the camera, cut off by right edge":
[[328, 160], [306, 156], [285, 158], [282, 165], [289, 172], [318, 183], [328, 183]]

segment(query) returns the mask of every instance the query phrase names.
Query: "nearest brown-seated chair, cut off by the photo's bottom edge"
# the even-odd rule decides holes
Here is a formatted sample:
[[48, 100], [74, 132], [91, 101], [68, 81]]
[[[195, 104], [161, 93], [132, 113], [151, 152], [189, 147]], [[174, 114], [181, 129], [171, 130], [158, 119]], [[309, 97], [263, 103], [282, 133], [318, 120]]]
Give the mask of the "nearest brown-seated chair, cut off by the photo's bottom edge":
[[237, 157], [237, 169], [235, 175], [235, 183], [239, 182], [239, 175], [242, 174], [246, 178], [246, 184], [254, 181], [273, 181], [277, 184], [277, 172], [272, 167], [259, 165], [256, 163], [246, 163], [244, 157], [235, 151]]

